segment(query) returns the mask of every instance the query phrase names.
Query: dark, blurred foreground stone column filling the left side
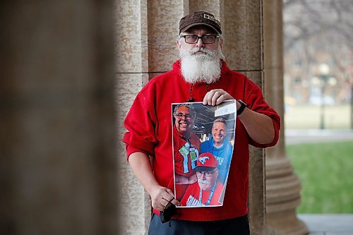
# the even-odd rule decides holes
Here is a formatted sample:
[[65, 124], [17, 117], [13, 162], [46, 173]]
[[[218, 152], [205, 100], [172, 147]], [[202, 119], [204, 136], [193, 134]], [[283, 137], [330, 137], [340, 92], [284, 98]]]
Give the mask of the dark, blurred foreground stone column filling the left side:
[[111, 5], [1, 1], [1, 234], [116, 234]]

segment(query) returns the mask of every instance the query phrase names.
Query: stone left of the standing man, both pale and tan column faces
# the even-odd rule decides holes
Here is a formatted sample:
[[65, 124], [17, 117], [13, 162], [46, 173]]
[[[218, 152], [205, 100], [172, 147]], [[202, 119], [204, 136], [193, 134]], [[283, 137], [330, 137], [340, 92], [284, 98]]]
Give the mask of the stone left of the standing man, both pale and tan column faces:
[[116, 100], [120, 108], [119, 195], [121, 234], [145, 234], [151, 216], [150, 195], [126, 162], [121, 138], [123, 121], [138, 92], [148, 80], [169, 71], [178, 58], [179, 19], [189, 12], [188, 1], [115, 1]]

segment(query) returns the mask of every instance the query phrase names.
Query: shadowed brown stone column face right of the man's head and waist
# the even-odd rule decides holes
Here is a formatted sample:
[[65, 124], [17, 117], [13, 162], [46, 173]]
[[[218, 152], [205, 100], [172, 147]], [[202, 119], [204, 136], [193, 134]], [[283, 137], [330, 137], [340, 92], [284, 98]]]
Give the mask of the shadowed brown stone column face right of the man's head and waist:
[[[229, 68], [263, 88], [262, 1], [222, 1], [224, 52]], [[266, 234], [265, 155], [251, 147], [249, 162], [249, 222], [251, 234]]]

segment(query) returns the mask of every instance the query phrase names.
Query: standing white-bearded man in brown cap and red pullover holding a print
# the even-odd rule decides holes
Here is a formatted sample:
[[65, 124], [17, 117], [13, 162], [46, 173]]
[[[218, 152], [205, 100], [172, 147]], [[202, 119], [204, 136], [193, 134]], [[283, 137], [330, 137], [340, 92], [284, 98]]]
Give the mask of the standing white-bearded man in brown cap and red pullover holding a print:
[[[148, 234], [249, 234], [249, 144], [275, 145], [280, 116], [265, 102], [258, 85], [229, 69], [222, 45], [220, 22], [213, 14], [198, 11], [181, 18], [180, 59], [172, 71], [145, 85], [126, 116], [126, 156], [153, 207]], [[237, 100], [237, 129], [223, 205], [181, 207], [174, 196], [172, 103], [214, 106], [225, 100]], [[176, 214], [162, 223], [169, 220], [165, 215], [174, 205]]]

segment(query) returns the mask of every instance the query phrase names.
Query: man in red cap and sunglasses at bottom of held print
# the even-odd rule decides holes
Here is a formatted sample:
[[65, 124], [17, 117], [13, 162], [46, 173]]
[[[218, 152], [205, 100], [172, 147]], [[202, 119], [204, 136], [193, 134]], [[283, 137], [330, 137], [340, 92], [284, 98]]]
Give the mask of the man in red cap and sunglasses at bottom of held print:
[[220, 206], [223, 183], [217, 180], [219, 170], [217, 159], [210, 152], [198, 156], [194, 169], [198, 182], [186, 189], [181, 205], [186, 207]]

